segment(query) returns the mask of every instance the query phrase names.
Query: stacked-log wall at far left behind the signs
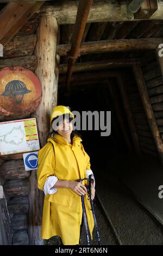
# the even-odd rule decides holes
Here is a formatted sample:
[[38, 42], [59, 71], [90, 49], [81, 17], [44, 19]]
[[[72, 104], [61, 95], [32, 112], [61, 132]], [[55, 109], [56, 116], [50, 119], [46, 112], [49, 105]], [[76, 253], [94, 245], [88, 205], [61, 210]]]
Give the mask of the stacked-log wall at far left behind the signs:
[[[34, 15], [4, 47], [0, 69], [5, 66], [23, 66], [35, 71], [37, 61], [34, 49], [38, 22]], [[29, 116], [15, 117], [15, 119], [22, 118], [29, 118]], [[0, 117], [0, 121], [12, 119]], [[4, 198], [0, 199], [2, 209], [0, 221], [3, 220], [4, 228], [7, 230], [5, 243], [10, 245], [29, 245], [30, 243], [28, 235], [30, 175], [31, 172], [26, 172], [24, 169], [22, 154], [0, 156], [0, 181], [4, 190]]]

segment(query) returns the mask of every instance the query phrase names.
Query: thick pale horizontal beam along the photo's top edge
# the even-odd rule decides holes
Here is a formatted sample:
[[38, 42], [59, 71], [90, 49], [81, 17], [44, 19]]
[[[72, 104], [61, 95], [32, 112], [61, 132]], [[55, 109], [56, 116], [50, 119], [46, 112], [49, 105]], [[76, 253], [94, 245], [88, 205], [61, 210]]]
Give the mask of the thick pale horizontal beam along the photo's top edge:
[[[51, 4], [47, 2], [45, 8], [40, 13], [51, 13], [57, 18], [58, 24], [74, 24], [76, 21], [78, 1], [76, 0], [60, 0]], [[163, 19], [163, 2], [158, 0], [158, 10], [150, 17], [150, 19]], [[117, 0], [101, 0], [93, 1], [87, 22], [107, 22], [107, 21], [130, 21], [134, 20], [133, 13], [128, 10], [126, 1]], [[141, 19], [140, 19], [141, 20]]]

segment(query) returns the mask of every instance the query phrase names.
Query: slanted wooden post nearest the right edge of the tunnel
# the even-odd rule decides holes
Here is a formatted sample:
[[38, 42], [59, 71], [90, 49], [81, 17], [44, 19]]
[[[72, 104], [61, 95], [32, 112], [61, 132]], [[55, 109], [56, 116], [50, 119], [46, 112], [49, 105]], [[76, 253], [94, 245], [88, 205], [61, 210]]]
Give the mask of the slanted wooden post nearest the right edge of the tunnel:
[[146, 88], [146, 83], [145, 83], [140, 65], [133, 65], [133, 71], [134, 71], [135, 79], [137, 82], [137, 87], [139, 89], [140, 96], [142, 99], [142, 103], [147, 115], [148, 124], [151, 128], [151, 132], [156, 144], [156, 148], [158, 149], [158, 153], [160, 155], [160, 159], [163, 164], [163, 143], [160, 136], [160, 131], [158, 129], [158, 125], [156, 123], [155, 115], [153, 113], [148, 91]]

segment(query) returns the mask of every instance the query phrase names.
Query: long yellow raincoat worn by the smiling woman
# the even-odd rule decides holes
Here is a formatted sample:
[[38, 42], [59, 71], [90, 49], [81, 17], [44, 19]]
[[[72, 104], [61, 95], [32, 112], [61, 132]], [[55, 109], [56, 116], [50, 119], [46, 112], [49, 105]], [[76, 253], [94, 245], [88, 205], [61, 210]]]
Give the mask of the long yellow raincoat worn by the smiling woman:
[[[40, 190], [43, 190], [48, 176], [74, 181], [86, 177], [86, 169], [90, 169], [90, 157], [85, 152], [79, 136], [73, 137], [72, 144], [59, 134], [54, 134], [53, 138], [48, 138], [47, 141], [38, 153], [37, 185]], [[86, 182], [83, 181], [83, 184]], [[92, 239], [94, 220], [87, 194], [84, 196], [84, 202]], [[78, 245], [82, 215], [80, 196], [69, 188], [57, 188], [54, 194], [45, 195], [41, 238], [49, 239], [58, 235], [64, 245]]]

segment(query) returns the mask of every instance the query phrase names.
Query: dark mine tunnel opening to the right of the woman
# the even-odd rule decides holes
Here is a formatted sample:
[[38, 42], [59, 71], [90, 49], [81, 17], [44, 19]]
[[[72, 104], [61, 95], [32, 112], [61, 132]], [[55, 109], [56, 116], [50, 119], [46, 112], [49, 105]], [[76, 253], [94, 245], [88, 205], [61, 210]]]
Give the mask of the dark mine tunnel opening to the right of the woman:
[[[143, 72], [149, 72], [151, 65], [142, 68]], [[73, 81], [76, 79], [78, 81], [72, 83], [68, 97], [65, 95], [62, 82], [59, 81], [58, 105], [69, 106], [72, 111], [79, 111], [80, 114], [82, 111], [111, 111], [109, 136], [101, 136], [100, 130], [79, 131], [97, 180], [96, 214], [104, 242], [128, 245], [159, 244], [163, 241], [163, 230], [160, 224], [161, 205], [157, 193], [159, 179], [162, 177], [162, 164], [133, 70], [131, 68], [118, 70], [123, 77], [123, 86], [128, 99], [127, 106], [121, 84], [116, 77], [98, 79], [98, 74], [101, 76], [101, 72], [107, 74], [111, 71], [98, 70], [74, 74]], [[146, 74], [144, 75], [146, 77]], [[83, 81], [85, 76], [92, 76], [92, 80]], [[95, 76], [97, 79], [93, 80]], [[62, 76], [60, 77], [63, 81]], [[146, 83], [155, 77], [151, 76], [147, 79], [149, 80]], [[130, 113], [133, 120], [128, 117]], [[135, 126], [140, 151], [137, 150], [133, 138], [135, 135], [131, 123]], [[156, 178], [155, 172], [160, 178]], [[102, 221], [103, 218], [105, 221], [109, 220], [108, 226]], [[139, 225], [141, 220], [143, 223]], [[111, 227], [116, 229], [114, 229], [115, 234], [110, 235], [107, 240], [110, 222]]]

